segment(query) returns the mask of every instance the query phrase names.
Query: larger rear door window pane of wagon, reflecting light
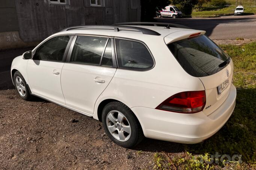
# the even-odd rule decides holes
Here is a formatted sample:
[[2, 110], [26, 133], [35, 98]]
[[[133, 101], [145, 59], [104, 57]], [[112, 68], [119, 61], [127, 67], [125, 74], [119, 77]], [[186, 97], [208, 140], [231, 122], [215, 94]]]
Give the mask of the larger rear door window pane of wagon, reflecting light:
[[99, 65], [108, 38], [78, 36], [70, 62]]

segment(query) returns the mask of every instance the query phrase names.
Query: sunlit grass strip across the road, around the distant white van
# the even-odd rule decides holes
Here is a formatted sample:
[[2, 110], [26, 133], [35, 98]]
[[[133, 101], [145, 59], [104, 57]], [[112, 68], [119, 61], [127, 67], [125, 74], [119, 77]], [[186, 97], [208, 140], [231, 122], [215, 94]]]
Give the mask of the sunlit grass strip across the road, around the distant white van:
[[[245, 7], [244, 15], [256, 14], [256, 7]], [[234, 15], [235, 7], [203, 7], [201, 11], [193, 10], [192, 17], [214, 17]]]

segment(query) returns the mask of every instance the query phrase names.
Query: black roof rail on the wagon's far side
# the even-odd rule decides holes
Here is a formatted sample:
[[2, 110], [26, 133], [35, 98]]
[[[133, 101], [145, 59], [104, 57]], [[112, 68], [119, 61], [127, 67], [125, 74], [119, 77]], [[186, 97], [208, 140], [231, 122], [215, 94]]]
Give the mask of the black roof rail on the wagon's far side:
[[171, 23], [164, 23], [164, 22], [122, 22], [122, 23], [116, 23], [113, 25], [154, 25], [156, 27], [160, 27], [163, 25], [165, 28], [174, 27], [174, 28], [186, 28], [191, 29], [184, 25], [179, 24], [171, 24]]

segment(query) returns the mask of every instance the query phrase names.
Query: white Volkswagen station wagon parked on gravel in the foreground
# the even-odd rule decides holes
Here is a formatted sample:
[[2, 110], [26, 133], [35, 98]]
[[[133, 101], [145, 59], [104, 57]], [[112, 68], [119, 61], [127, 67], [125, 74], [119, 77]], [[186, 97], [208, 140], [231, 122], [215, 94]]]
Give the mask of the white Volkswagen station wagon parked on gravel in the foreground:
[[102, 121], [120, 146], [144, 136], [199, 143], [226, 123], [236, 99], [232, 59], [204, 34], [166, 23], [70, 27], [15, 58], [11, 76], [24, 100]]

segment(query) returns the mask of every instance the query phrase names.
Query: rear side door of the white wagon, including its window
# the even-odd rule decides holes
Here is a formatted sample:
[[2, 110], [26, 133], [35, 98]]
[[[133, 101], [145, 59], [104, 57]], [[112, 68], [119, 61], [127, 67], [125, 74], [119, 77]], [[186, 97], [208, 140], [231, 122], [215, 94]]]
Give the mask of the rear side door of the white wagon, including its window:
[[66, 105], [93, 114], [96, 100], [116, 72], [113, 39], [76, 35], [68, 53], [61, 76]]

